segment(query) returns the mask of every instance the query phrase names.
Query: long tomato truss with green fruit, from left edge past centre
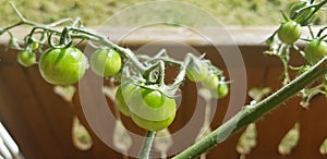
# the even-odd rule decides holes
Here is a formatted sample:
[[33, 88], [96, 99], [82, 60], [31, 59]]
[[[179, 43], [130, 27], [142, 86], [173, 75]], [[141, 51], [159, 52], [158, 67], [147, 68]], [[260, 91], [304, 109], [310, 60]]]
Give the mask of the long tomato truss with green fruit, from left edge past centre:
[[[204, 59], [205, 54], [196, 57], [187, 53], [182, 61], [170, 58], [165, 49], [154, 57], [136, 56], [132, 50], [112, 42], [107, 36], [85, 28], [78, 17], [39, 24], [25, 19], [13, 3], [11, 5], [20, 21], [0, 28], [0, 35], [8, 34], [9, 46], [21, 50], [17, 61], [23, 66], [31, 66], [38, 60], [40, 74], [46, 82], [65, 86], [81, 81], [89, 63], [95, 74], [121, 82], [116, 96], [117, 109], [148, 131], [152, 137], [155, 131], [168, 127], [174, 120], [174, 97], [186, 78], [202, 82], [208, 77], [210, 81], [208, 74], [215, 74], [219, 78], [216, 78], [218, 81], [211, 91], [213, 97], [220, 99], [228, 94], [228, 82], [222, 71]], [[16, 38], [12, 33], [12, 28], [21, 25], [32, 27], [24, 39]], [[78, 45], [85, 40], [96, 49], [89, 61], [78, 49]], [[44, 51], [47, 46], [49, 48]], [[36, 59], [36, 53], [40, 53], [39, 59]], [[165, 83], [167, 65], [180, 70], [172, 84]], [[129, 80], [120, 78], [121, 74]], [[142, 158], [148, 157], [147, 147], [148, 145], [143, 147], [142, 151], [145, 154], [141, 154]]]

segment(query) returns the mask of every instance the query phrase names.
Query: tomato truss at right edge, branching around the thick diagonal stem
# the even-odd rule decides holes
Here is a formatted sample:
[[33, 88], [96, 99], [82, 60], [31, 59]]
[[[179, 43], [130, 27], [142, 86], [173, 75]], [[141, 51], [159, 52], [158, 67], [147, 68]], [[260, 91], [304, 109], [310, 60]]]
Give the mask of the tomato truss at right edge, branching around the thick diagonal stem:
[[[289, 14], [282, 13], [283, 21], [280, 27], [266, 40], [266, 44], [270, 47], [265, 51], [266, 54], [276, 56], [280, 59], [283, 65], [283, 73], [281, 80], [283, 85], [291, 81], [290, 71], [298, 71], [296, 75], [302, 74], [312, 68], [315, 63], [322, 60], [327, 54], [327, 45], [324, 35], [326, 27], [323, 27], [314, 35], [312, 24], [317, 17], [319, 10], [327, 3], [323, 1], [299, 1], [294, 3]], [[310, 38], [303, 38], [302, 30], [307, 28], [311, 34]], [[276, 37], [278, 35], [278, 38]], [[296, 41], [304, 41], [304, 49], [298, 47]], [[303, 59], [303, 64], [293, 66], [290, 64], [291, 53], [298, 52]], [[317, 94], [325, 94], [327, 96], [326, 83], [319, 83], [312, 86], [307, 86], [300, 94], [303, 97], [301, 105], [307, 107], [310, 100]]]

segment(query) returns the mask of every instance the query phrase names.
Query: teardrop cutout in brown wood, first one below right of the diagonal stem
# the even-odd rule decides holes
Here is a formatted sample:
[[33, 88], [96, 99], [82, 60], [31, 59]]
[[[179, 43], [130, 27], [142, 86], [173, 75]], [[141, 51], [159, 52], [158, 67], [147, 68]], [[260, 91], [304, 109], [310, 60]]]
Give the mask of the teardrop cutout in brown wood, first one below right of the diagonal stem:
[[244, 133], [240, 136], [237, 145], [237, 150], [242, 155], [247, 155], [256, 146], [256, 126], [250, 124]]

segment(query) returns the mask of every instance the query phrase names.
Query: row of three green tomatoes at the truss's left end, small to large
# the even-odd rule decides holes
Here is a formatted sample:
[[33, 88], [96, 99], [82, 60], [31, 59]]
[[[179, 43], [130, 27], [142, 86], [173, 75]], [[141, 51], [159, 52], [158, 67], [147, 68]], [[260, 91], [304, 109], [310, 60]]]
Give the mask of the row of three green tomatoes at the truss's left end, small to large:
[[[17, 54], [17, 61], [23, 66], [36, 63], [38, 42], [33, 42]], [[90, 57], [90, 66], [95, 74], [108, 77], [116, 75], [122, 65], [120, 54], [109, 48], [100, 48]], [[86, 56], [76, 47], [49, 48], [41, 53], [39, 71], [41, 76], [53, 85], [72, 85], [77, 83], [88, 69]]]

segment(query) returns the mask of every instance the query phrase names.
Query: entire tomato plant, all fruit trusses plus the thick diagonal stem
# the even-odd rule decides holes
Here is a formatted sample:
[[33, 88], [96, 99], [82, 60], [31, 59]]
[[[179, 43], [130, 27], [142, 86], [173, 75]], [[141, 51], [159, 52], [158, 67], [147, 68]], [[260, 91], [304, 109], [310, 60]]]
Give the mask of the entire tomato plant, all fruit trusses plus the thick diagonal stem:
[[[266, 40], [270, 48], [265, 53], [278, 57], [283, 64], [282, 81], [284, 87], [251, 107], [244, 107], [223, 125], [174, 158], [199, 156], [299, 91], [303, 97], [303, 106], [307, 106], [311, 98], [317, 94], [327, 95], [327, 45], [325, 41], [327, 35], [324, 35], [327, 27], [320, 28], [316, 35], [311, 27], [317, 12], [326, 3], [327, 0], [295, 3], [288, 15], [282, 12], [284, 22]], [[93, 46], [98, 49], [90, 60], [93, 71], [96, 74], [118, 81], [120, 78], [117, 74], [120, 73], [129, 77], [129, 81], [121, 81], [116, 100], [118, 100], [118, 110], [121, 113], [131, 117], [138, 126], [148, 131], [140, 154], [142, 159], [149, 156], [155, 131], [169, 126], [174, 119], [177, 108], [173, 98], [185, 78], [202, 83], [204, 87], [210, 89], [215, 98], [220, 99], [228, 94], [228, 82], [226, 82], [222, 71], [204, 59], [204, 56], [195, 57], [187, 53], [184, 60], [179, 61], [170, 58], [165, 49], [154, 57], [136, 56], [132, 50], [113, 44], [106, 36], [84, 28], [80, 19], [63, 19], [50, 24], [38, 24], [26, 20], [14, 4], [11, 4], [20, 17], [20, 22], [0, 28], [0, 35], [8, 34], [10, 36], [9, 46], [21, 50], [17, 59], [23, 66], [34, 64], [37, 60], [35, 53], [41, 53], [40, 73], [50, 84], [71, 85], [83, 77], [87, 69], [87, 59], [77, 49], [77, 46], [84, 40], [94, 44]], [[12, 33], [12, 28], [21, 25], [33, 27], [24, 39], [14, 37]], [[61, 30], [58, 28], [60, 26]], [[307, 27], [311, 33], [310, 39], [301, 38], [303, 27]], [[295, 45], [298, 40], [307, 42], [304, 50]], [[43, 51], [46, 45], [49, 45], [50, 48]], [[290, 53], [293, 50], [304, 59], [300, 66], [289, 64]], [[110, 65], [112, 62], [107, 62], [108, 57], [110, 57], [109, 53], [116, 54], [117, 59], [113, 61], [119, 61], [117, 64]], [[99, 61], [101, 59], [105, 61]], [[77, 63], [76, 68], [65, 69], [71, 68], [68, 65], [74, 65], [74, 63]], [[180, 72], [172, 84], [165, 84], [166, 65], [179, 68]], [[292, 81], [289, 75], [290, 70], [298, 71], [298, 76]], [[74, 75], [70, 76], [72, 74]], [[323, 80], [319, 84], [312, 85], [320, 78]], [[147, 111], [140, 111], [140, 108]], [[160, 111], [158, 112], [157, 109]]]

